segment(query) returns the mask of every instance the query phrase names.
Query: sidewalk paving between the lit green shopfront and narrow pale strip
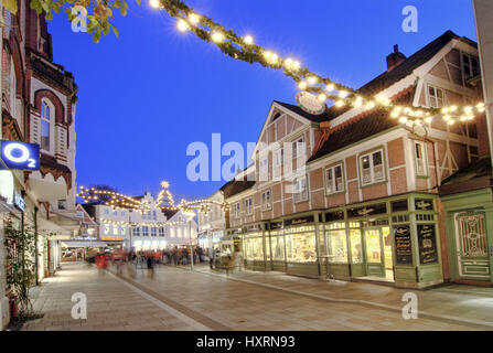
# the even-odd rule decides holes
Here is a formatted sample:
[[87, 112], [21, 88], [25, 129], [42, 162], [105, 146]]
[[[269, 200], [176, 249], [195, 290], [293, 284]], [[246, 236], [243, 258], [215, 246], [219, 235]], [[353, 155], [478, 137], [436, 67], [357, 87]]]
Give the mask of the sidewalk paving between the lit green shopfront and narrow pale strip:
[[[185, 268], [185, 267], [182, 267]], [[275, 287], [291, 292], [322, 297], [337, 301], [361, 301], [374, 307], [385, 306], [397, 310], [405, 304], [403, 296], [412, 292], [418, 298], [418, 310], [422, 317], [448, 321], [478, 323], [493, 330], [493, 288], [464, 285], [447, 285], [432, 289], [398, 289], [367, 282], [347, 282], [341, 280], [319, 281], [317, 279], [287, 276], [277, 271], [216, 271], [208, 266], [197, 266], [196, 271], [227, 277], [231, 280]]]

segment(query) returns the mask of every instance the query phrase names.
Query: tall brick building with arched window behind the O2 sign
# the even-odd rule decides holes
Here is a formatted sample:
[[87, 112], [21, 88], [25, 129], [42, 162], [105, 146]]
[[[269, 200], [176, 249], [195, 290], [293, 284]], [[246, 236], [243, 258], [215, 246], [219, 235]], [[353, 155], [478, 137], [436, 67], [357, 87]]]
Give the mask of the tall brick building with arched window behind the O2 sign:
[[[69, 238], [75, 232], [55, 222], [61, 215], [75, 218], [77, 86], [73, 75], [53, 62], [52, 40], [44, 17], [30, 8], [29, 0], [20, 0], [18, 8], [17, 14], [1, 9], [4, 24], [1, 28], [1, 139], [40, 145], [41, 161], [39, 171], [2, 168], [0, 235], [7, 218], [20, 228], [26, 224], [36, 226], [41, 254], [36, 257], [39, 281], [56, 270], [60, 239]], [[22, 195], [24, 210], [12, 205], [11, 190], [6, 185], [12, 185]], [[52, 236], [41, 236], [47, 233]], [[0, 263], [3, 260], [2, 256]], [[3, 265], [0, 269], [2, 303], [9, 292], [4, 281], [9, 264]]]

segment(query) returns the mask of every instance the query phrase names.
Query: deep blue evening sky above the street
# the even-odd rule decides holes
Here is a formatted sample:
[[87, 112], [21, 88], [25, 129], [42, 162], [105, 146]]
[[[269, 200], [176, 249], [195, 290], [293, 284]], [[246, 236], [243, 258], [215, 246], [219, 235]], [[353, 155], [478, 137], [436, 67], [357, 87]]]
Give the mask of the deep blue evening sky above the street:
[[[470, 0], [190, 0], [238, 34], [322, 76], [360, 87], [386, 69], [399, 44], [410, 55], [447, 30], [475, 40]], [[204, 197], [225, 181], [191, 182], [193, 141], [256, 142], [274, 99], [296, 104], [297, 86], [280, 71], [234, 61], [213, 44], [175, 30], [165, 12], [129, 0], [112, 33], [94, 44], [65, 14], [49, 24], [54, 61], [74, 73], [77, 183], [124, 193], [157, 192], [161, 180], [179, 197]], [[401, 30], [406, 6], [419, 11], [418, 33]], [[246, 160], [246, 156], [245, 156]]]

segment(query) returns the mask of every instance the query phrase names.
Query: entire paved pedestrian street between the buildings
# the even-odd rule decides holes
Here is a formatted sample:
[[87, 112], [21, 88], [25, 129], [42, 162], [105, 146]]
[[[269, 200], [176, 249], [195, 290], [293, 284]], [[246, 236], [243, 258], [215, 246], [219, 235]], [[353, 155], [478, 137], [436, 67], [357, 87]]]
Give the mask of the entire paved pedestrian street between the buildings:
[[[160, 266], [153, 278], [146, 269], [137, 269], [133, 279], [126, 270], [115, 272], [115, 267], [99, 275], [95, 266], [64, 264], [33, 290], [34, 307], [44, 317], [23, 330], [493, 329], [491, 288], [416, 291], [419, 317], [405, 320], [398, 308], [406, 291], [385, 286], [321, 282], [280, 272], [225, 274], [205, 266], [195, 271]], [[71, 317], [74, 292], [87, 296], [87, 320]]]

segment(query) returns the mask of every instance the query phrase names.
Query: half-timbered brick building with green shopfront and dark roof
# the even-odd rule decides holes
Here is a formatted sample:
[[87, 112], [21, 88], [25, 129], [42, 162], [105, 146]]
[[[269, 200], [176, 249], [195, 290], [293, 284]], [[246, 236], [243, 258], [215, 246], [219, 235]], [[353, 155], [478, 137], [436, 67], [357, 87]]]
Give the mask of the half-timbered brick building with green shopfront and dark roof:
[[[358, 89], [405, 108], [482, 100], [476, 44], [446, 32]], [[254, 269], [422, 288], [450, 278], [442, 181], [489, 154], [484, 115], [419, 125], [367, 107], [274, 101], [255, 163], [222, 188]]]

